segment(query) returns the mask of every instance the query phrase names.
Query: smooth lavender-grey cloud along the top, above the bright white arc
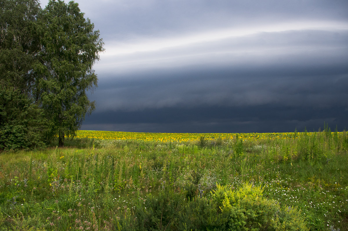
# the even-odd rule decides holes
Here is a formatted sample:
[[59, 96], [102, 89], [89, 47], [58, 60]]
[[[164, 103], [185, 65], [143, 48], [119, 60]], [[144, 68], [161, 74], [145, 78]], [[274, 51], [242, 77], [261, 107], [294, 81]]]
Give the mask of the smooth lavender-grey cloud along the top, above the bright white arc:
[[[283, 20], [346, 20], [346, 1], [79, 1], [107, 35], [175, 35], [206, 28], [274, 23]], [[159, 20], [160, 19], [160, 20]], [[108, 22], [108, 23], [105, 23]], [[112, 33], [109, 31], [112, 30]], [[112, 38], [111, 35], [115, 37]]]

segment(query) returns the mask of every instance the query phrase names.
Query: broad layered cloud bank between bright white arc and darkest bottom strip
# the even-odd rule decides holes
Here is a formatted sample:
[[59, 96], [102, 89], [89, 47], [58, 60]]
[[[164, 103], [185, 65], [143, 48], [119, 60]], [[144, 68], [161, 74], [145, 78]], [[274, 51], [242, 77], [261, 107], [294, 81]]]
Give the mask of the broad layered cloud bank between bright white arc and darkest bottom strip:
[[137, 53], [128, 58], [152, 56], [156, 62], [110, 65], [94, 98], [103, 111], [203, 104], [347, 106], [338, 100], [347, 97], [347, 35], [316, 30], [258, 33]]

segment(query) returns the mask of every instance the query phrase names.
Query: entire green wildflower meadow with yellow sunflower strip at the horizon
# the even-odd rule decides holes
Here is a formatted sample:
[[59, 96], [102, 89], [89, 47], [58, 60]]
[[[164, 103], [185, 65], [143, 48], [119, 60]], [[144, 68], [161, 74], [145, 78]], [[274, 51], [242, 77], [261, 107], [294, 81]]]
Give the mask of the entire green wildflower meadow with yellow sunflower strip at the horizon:
[[348, 136], [78, 131], [0, 154], [0, 230], [348, 230]]

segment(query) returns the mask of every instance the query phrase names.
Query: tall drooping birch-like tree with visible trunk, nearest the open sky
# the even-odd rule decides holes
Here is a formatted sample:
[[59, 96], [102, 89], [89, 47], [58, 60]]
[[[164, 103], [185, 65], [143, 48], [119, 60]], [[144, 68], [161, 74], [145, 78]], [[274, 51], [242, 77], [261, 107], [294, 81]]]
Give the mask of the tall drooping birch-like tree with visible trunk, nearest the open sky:
[[103, 42], [73, 1], [50, 0], [39, 31], [42, 48], [40, 64], [35, 66], [35, 95], [49, 121], [48, 137], [58, 135], [62, 146], [64, 136], [74, 136], [86, 113], [94, 110], [86, 93], [97, 86], [92, 67], [103, 51]]

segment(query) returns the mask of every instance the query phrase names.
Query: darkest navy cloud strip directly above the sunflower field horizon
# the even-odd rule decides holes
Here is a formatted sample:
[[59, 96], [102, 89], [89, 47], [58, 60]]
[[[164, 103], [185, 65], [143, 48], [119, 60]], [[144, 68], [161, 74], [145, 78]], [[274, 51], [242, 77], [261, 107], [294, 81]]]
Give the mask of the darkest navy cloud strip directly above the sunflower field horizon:
[[[347, 114], [341, 107], [331, 108]], [[342, 111], [343, 110], [343, 111]], [[300, 111], [300, 113], [299, 113]], [[100, 123], [104, 121], [104, 123]], [[116, 130], [169, 133], [290, 132], [323, 129], [323, 121], [346, 129], [345, 118], [332, 118], [332, 112], [310, 107], [277, 105], [239, 107], [161, 108], [134, 112], [95, 113], [86, 119], [88, 130]]]

